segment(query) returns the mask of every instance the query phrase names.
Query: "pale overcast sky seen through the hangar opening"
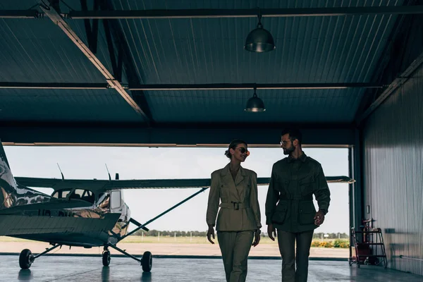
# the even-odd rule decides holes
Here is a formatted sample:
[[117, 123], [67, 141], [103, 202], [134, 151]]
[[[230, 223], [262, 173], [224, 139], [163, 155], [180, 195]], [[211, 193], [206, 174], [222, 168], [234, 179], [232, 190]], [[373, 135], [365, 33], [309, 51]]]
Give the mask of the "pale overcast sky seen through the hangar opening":
[[[42, 147], [4, 146], [13, 176], [61, 178], [57, 163], [68, 179], [210, 178], [213, 171], [228, 164], [225, 148], [210, 147]], [[249, 148], [250, 157], [241, 164], [270, 177], [271, 167], [286, 157], [280, 148]], [[305, 154], [321, 163], [326, 176], [348, 176], [348, 149], [303, 148]], [[268, 186], [259, 186], [262, 231], [266, 232], [264, 203]], [[329, 183], [331, 206], [323, 225], [314, 232], [348, 233], [348, 184]], [[50, 188], [37, 189], [51, 194]], [[131, 216], [143, 223], [164, 212], [200, 189], [124, 190]], [[209, 190], [153, 221], [147, 226], [159, 231], [207, 231], [205, 214]], [[317, 208], [317, 202], [314, 201]]]

